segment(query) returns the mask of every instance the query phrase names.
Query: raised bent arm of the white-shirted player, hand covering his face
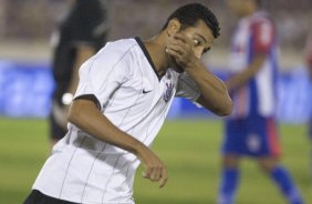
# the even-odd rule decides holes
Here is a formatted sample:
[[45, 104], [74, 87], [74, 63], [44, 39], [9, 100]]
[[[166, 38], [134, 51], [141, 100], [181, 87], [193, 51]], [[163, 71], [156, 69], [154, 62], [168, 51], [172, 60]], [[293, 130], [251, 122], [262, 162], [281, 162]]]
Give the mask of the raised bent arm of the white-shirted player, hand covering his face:
[[176, 33], [166, 52], [176, 59], [188, 75], [195, 81], [201, 95], [197, 102], [218, 115], [229, 115], [232, 102], [225, 83], [206, 70], [200, 59], [195, 57], [191, 42], [183, 34]]

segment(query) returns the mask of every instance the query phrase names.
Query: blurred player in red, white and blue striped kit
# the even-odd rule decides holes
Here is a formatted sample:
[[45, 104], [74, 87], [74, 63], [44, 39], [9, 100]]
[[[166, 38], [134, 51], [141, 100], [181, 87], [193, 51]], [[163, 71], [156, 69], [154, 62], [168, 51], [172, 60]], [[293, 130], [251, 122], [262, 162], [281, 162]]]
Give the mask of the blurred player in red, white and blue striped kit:
[[231, 45], [231, 76], [226, 81], [233, 100], [225, 124], [219, 204], [232, 204], [241, 157], [254, 159], [291, 204], [302, 204], [290, 174], [280, 163], [275, 121], [277, 30], [259, 0], [228, 0], [240, 18]]

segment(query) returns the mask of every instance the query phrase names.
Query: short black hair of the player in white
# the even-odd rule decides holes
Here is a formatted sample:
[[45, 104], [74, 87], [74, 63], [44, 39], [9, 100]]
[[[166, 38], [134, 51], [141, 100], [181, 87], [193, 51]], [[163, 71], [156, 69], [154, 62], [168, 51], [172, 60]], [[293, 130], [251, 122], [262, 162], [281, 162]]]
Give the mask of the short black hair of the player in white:
[[200, 3], [189, 3], [175, 10], [167, 19], [162, 31], [168, 27], [171, 19], [177, 19], [181, 23], [183, 29], [194, 27], [198, 20], [202, 20], [207, 27], [211, 29], [215, 38], [220, 35], [219, 22], [216, 16], [207, 7]]

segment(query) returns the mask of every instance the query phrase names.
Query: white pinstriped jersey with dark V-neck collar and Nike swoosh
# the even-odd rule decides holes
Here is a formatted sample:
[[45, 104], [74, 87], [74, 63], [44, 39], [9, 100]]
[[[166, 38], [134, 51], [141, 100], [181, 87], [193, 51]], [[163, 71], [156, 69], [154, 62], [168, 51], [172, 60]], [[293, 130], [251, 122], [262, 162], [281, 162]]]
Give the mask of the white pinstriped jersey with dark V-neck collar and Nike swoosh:
[[[122, 131], [150, 146], [174, 96], [197, 100], [199, 91], [186, 74], [157, 75], [142, 41], [108, 42], [80, 69], [75, 98], [94, 95], [101, 112]], [[100, 141], [69, 124], [34, 185], [45, 195], [75, 203], [133, 204], [133, 181], [139, 161], [132, 153]]]

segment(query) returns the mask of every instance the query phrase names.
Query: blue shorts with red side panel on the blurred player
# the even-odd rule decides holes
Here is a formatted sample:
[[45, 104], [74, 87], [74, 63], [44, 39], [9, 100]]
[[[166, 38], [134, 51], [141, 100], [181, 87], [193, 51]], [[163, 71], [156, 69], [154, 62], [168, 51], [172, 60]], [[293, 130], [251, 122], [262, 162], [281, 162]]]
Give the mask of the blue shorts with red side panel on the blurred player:
[[223, 154], [273, 156], [281, 154], [275, 120], [263, 116], [229, 119], [225, 124]]

